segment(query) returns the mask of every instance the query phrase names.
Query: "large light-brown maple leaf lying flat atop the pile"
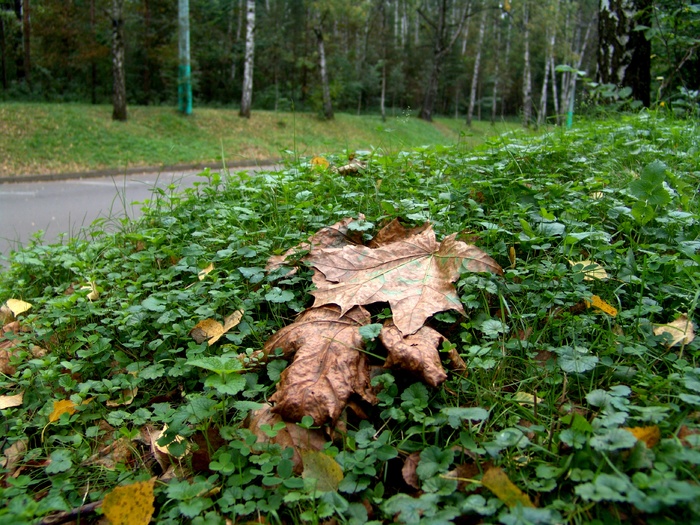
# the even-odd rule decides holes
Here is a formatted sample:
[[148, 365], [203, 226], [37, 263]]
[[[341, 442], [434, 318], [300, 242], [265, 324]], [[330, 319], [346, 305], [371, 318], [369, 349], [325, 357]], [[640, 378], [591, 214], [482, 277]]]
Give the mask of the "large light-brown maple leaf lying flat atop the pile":
[[441, 243], [431, 226], [406, 239], [378, 248], [344, 246], [313, 250], [308, 260], [317, 270], [314, 306], [337, 304], [341, 314], [353, 306], [388, 302], [394, 324], [404, 335], [415, 333], [437, 312], [464, 307], [453, 286], [462, 264], [469, 271], [502, 274], [501, 267], [473, 245]]

